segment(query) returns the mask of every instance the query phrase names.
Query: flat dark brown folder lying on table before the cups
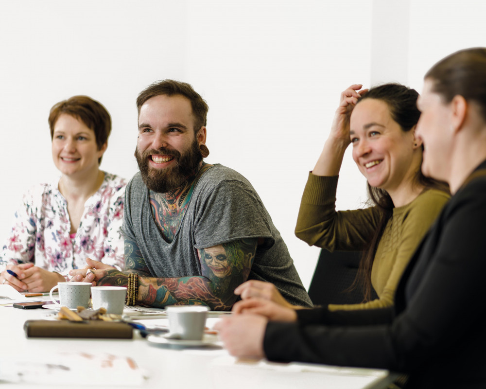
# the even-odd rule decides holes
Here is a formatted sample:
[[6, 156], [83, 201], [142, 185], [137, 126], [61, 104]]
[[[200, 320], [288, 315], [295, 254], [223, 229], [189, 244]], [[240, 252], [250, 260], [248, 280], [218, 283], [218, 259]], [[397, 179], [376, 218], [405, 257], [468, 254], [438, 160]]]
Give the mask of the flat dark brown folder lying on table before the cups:
[[86, 320], [27, 320], [24, 323], [27, 337], [92, 337], [131, 339], [133, 328], [116, 321]]

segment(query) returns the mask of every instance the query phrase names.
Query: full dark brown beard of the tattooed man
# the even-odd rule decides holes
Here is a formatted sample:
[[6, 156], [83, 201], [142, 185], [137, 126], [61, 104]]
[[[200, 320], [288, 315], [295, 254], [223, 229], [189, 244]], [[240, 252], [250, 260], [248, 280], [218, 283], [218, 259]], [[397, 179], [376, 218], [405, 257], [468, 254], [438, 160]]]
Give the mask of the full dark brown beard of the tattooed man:
[[[150, 155], [172, 155], [175, 163], [165, 169], [151, 168], [147, 160]], [[203, 159], [197, 140], [194, 140], [187, 150], [183, 150], [182, 154], [177, 150], [163, 147], [158, 150], [145, 150], [140, 155], [136, 148], [135, 157], [143, 182], [147, 188], [159, 193], [166, 193], [182, 186], [195, 173], [199, 162]]]

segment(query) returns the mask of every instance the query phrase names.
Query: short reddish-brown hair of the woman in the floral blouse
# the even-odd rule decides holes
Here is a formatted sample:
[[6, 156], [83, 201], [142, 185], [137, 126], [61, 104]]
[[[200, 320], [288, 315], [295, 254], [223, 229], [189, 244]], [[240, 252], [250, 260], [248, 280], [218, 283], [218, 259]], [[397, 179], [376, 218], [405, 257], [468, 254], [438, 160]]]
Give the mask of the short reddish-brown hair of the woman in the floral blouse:
[[[98, 150], [101, 150], [104, 143], [108, 141], [111, 132], [111, 117], [106, 108], [96, 100], [88, 96], [72, 96], [67, 100], [54, 104], [51, 112], [49, 112], [51, 140], [54, 135], [54, 125], [62, 114], [70, 115], [92, 129]], [[102, 157], [98, 159], [98, 164], [101, 163], [101, 159]]]

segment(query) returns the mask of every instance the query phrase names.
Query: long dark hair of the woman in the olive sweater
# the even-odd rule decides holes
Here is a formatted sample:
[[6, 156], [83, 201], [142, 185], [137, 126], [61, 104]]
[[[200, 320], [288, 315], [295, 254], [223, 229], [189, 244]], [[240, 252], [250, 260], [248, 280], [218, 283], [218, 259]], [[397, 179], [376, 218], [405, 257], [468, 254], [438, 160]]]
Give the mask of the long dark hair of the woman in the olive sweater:
[[[420, 111], [417, 108], [417, 98], [418, 93], [415, 89], [407, 88], [400, 84], [384, 84], [371, 88], [357, 104], [366, 99], [383, 101], [390, 110], [391, 118], [399, 124], [402, 131], [408, 132], [413, 130], [420, 117]], [[433, 178], [425, 177], [420, 167], [417, 169], [414, 183], [417, 186], [449, 192], [447, 184]], [[394, 208], [393, 201], [386, 191], [372, 187], [369, 183], [367, 183], [367, 189], [369, 197], [368, 203], [377, 207], [380, 212], [380, 221], [369, 246], [364, 250], [358, 274], [351, 285], [351, 288], [355, 288], [360, 284], [363, 285], [364, 301], [371, 300], [373, 290], [373, 286], [371, 285], [371, 267], [383, 230], [392, 216]]]

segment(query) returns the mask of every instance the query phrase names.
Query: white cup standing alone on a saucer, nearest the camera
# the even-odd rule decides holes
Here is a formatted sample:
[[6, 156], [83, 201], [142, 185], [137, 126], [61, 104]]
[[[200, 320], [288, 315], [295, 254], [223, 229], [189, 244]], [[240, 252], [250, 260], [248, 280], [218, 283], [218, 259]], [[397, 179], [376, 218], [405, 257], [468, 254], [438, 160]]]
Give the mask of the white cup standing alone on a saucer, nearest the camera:
[[169, 316], [170, 337], [184, 340], [201, 340], [208, 307], [202, 305], [170, 305], [166, 307]]

